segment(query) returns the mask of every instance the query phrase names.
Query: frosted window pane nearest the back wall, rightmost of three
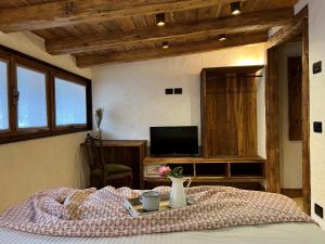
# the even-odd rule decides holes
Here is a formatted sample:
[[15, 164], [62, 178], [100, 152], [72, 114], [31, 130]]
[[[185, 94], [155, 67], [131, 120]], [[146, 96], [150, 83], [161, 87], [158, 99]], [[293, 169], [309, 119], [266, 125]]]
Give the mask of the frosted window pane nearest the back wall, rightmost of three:
[[55, 125], [86, 124], [86, 86], [55, 78]]

